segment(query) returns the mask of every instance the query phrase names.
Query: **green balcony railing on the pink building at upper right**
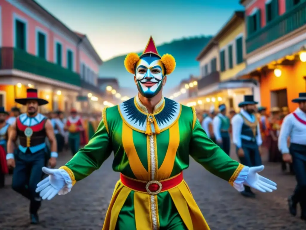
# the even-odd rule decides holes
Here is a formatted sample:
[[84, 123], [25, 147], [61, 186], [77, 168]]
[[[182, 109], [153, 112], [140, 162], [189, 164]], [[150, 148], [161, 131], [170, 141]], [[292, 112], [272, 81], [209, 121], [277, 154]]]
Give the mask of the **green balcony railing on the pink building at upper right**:
[[246, 39], [247, 53], [282, 37], [306, 25], [306, 2], [293, 7], [292, 10], [275, 18], [259, 31], [251, 34]]

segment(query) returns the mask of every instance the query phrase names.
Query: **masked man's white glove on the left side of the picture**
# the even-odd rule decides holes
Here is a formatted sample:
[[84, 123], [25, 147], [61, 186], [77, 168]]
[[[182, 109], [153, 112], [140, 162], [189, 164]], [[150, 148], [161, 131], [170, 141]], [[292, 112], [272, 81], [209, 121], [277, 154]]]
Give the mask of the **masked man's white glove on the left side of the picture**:
[[51, 200], [56, 194], [65, 195], [71, 191], [72, 181], [69, 174], [63, 169], [42, 168], [49, 176], [37, 184], [36, 192], [43, 200]]

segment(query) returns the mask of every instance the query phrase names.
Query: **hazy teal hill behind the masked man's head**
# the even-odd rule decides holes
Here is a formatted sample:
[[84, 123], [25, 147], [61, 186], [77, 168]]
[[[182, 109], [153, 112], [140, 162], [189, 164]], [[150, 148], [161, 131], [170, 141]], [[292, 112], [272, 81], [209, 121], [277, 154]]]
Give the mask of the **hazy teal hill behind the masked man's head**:
[[[199, 63], [196, 56], [208, 43], [212, 36], [198, 36], [173, 40], [157, 46], [160, 55], [169, 53], [176, 60], [176, 68], [167, 79], [166, 88], [177, 86], [182, 79], [186, 79], [190, 74], [200, 75]], [[139, 52], [139, 54], [141, 54]], [[132, 75], [129, 74], [124, 67], [124, 59], [126, 55], [118, 56], [103, 63], [100, 67], [99, 76], [115, 76], [119, 80], [119, 84], [125, 87], [135, 87]], [[115, 72], [114, 72], [115, 71]], [[126, 81], [126, 79], [130, 79]]]

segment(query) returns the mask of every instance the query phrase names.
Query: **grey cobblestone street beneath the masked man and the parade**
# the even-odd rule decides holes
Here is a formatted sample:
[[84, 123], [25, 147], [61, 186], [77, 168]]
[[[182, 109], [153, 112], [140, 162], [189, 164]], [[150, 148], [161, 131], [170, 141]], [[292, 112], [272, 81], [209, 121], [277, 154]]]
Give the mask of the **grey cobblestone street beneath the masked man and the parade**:
[[[58, 166], [69, 158], [69, 154], [62, 156]], [[101, 229], [119, 177], [111, 165], [112, 158], [99, 171], [78, 182], [69, 194], [44, 201], [39, 226], [29, 226], [28, 201], [11, 190], [11, 178], [8, 178], [6, 188], [0, 190], [0, 229]], [[295, 178], [283, 175], [279, 165], [267, 165], [263, 175], [275, 181], [278, 190], [269, 194], [257, 192], [256, 199], [242, 197], [227, 182], [209, 174], [193, 160], [184, 178], [212, 230], [306, 229], [305, 222], [288, 213], [286, 198], [293, 191]]]

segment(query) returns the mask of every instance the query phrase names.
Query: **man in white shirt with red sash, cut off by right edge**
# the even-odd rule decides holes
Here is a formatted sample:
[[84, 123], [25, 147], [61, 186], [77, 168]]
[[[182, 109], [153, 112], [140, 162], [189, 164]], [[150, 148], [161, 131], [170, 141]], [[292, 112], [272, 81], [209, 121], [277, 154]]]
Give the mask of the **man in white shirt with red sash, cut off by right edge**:
[[[289, 211], [297, 215], [297, 203], [301, 206], [301, 219], [306, 220], [306, 93], [300, 93], [292, 102], [299, 107], [284, 118], [278, 137], [278, 148], [282, 152], [282, 159], [292, 163], [297, 187], [288, 198]], [[290, 148], [287, 140], [290, 137]]]

